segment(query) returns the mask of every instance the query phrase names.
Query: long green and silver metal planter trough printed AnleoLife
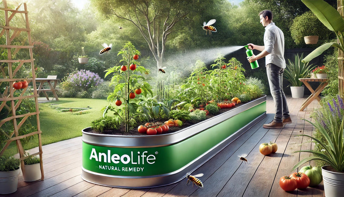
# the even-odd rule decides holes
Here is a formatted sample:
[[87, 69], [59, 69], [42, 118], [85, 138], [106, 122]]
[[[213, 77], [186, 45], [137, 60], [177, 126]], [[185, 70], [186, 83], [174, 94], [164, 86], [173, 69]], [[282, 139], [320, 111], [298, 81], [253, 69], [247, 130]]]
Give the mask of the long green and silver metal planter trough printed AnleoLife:
[[123, 136], [83, 129], [82, 178], [97, 185], [149, 188], [185, 178], [266, 116], [266, 96], [174, 133]]

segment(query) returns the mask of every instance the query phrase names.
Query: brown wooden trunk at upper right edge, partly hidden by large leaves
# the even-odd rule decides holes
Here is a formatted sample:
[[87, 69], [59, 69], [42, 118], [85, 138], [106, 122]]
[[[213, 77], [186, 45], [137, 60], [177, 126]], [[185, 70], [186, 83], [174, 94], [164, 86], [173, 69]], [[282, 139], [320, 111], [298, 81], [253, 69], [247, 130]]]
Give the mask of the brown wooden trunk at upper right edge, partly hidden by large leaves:
[[[343, 6], [342, 0], [337, 0], [337, 10], [344, 18]], [[338, 49], [338, 89], [339, 95], [344, 98], [344, 53], [340, 49]]]

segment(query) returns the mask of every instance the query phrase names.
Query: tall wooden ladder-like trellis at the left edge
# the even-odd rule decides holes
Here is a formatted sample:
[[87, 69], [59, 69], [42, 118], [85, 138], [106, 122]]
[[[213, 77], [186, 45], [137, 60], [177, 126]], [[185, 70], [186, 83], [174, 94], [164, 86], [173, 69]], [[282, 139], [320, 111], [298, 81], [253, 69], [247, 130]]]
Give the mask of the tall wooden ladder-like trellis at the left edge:
[[[2, 125], [4, 125], [8, 121], [13, 122], [13, 132], [11, 131], [11, 134], [7, 134], [6, 131], [2, 131], [0, 129], [0, 135], [5, 135], [8, 140], [6, 141], [6, 145], [2, 148], [0, 151], [0, 156], [4, 153], [4, 151], [8, 148], [11, 142], [15, 141], [17, 144], [17, 147], [19, 149], [19, 155], [20, 155], [20, 160], [21, 160], [21, 169], [22, 172], [24, 173], [25, 167], [24, 167], [24, 159], [27, 157], [23, 157], [24, 154], [24, 149], [21, 144], [20, 139], [25, 138], [25, 137], [30, 137], [33, 135], [38, 135], [38, 141], [39, 141], [39, 152], [37, 153], [30, 153], [30, 155], [40, 155], [40, 161], [41, 161], [41, 180], [44, 179], [44, 173], [43, 173], [43, 163], [42, 163], [42, 141], [41, 141], [41, 129], [40, 129], [40, 120], [39, 120], [39, 108], [38, 108], [38, 95], [37, 95], [37, 88], [36, 88], [36, 83], [35, 83], [35, 68], [34, 68], [34, 59], [33, 59], [33, 53], [32, 53], [32, 48], [33, 44], [31, 42], [31, 29], [30, 29], [30, 24], [29, 24], [29, 19], [28, 19], [28, 10], [26, 7], [26, 3], [21, 3], [15, 10], [8, 8], [7, 6], [7, 1], [2, 0], [3, 2], [3, 8], [0, 8], [0, 11], [4, 11], [4, 16], [5, 16], [5, 26], [0, 26], [2, 28], [0, 32], [0, 37], [6, 36], [6, 44], [0, 43], [0, 51], [1, 50], [6, 50], [7, 49], [7, 56], [8, 59], [6, 60], [0, 60], [0, 72], [2, 75], [2, 78], [0, 78], [0, 85], [1, 84], [6, 84], [6, 89], [4, 92], [0, 93], [0, 111], [2, 111], [4, 108], [6, 108], [8, 111], [11, 111], [11, 117], [7, 117], [0, 122], [0, 128]], [[22, 11], [22, 9], [24, 10]], [[9, 15], [10, 14], [10, 15]], [[11, 19], [14, 17], [15, 14], [21, 14], [22, 17], [25, 19], [25, 28], [19, 28], [19, 27], [13, 27], [10, 25]], [[26, 32], [28, 35], [27, 39], [24, 39], [21, 42], [21, 45], [12, 45], [11, 42], [19, 36], [22, 32]], [[28, 41], [29, 45], [25, 45]], [[18, 41], [16, 42], [18, 43]], [[15, 58], [15, 54], [18, 53], [18, 51], [22, 50], [29, 50], [30, 57], [26, 60], [19, 60]], [[31, 65], [31, 73], [32, 73], [32, 78], [27, 79], [28, 83], [33, 82], [33, 90], [34, 93], [33, 95], [25, 95], [24, 93], [27, 90], [27, 87], [21, 90], [16, 90], [13, 88], [13, 83], [15, 81], [20, 81], [17, 77], [17, 72], [19, 71], [20, 68], [22, 68], [22, 65], [30, 64]], [[15, 65], [13, 65], [15, 64]], [[8, 66], [8, 73], [5, 72], [5, 66]], [[23, 66], [24, 68], [24, 66]], [[22, 91], [20, 96], [14, 96], [15, 91]], [[16, 110], [18, 109], [19, 105], [21, 104], [23, 99], [34, 99], [35, 100], [35, 112], [30, 112], [27, 114], [21, 114], [21, 115], [16, 115]], [[9, 104], [10, 103], [10, 104]], [[25, 134], [25, 135], [19, 135], [19, 129], [23, 125], [23, 123], [27, 120], [29, 116], [34, 116], [36, 115], [37, 118], [37, 131]], [[19, 124], [18, 124], [18, 120]]]

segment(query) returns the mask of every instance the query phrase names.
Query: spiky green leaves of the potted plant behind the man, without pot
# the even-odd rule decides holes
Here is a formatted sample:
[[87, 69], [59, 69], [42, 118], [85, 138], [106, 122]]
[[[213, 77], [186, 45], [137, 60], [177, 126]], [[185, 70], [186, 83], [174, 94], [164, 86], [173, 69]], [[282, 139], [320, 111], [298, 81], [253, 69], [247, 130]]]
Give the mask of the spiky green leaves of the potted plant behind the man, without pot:
[[287, 68], [284, 70], [283, 78], [288, 80], [291, 86], [302, 86], [302, 82], [299, 78], [305, 78], [311, 70], [315, 67], [313, 64], [309, 64], [309, 62], [304, 63], [301, 62], [303, 59], [303, 53], [301, 56], [299, 54], [295, 54], [295, 62], [291, 62], [288, 59]]

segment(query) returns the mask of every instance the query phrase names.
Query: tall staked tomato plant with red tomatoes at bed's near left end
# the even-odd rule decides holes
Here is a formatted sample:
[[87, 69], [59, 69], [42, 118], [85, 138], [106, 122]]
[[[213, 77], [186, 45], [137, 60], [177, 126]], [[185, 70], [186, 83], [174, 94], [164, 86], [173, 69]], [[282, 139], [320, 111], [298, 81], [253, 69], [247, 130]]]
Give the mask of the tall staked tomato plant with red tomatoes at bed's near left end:
[[[136, 90], [140, 90], [140, 93], [137, 94], [142, 92], [144, 96], [147, 96], [147, 93], [153, 95], [150, 85], [145, 82], [145, 78], [142, 75], [136, 74], [137, 72], [144, 74], [148, 71], [143, 66], [136, 66], [140, 63], [133, 59], [134, 54], [140, 55], [141, 53], [136, 50], [131, 42], [127, 42], [117, 54], [122, 55], [122, 59], [119, 62], [123, 62], [123, 65], [107, 69], [105, 74], [105, 77], [112, 74], [111, 84], [116, 84], [114, 91], [107, 98], [108, 101], [112, 103], [115, 100], [122, 100], [124, 101], [124, 106], [117, 108], [110, 104], [104, 107], [103, 117], [109, 110], [113, 111], [125, 123], [126, 132], [129, 131], [129, 123], [133, 122], [133, 118], [139, 116], [137, 113], [139, 105], [135, 102]], [[126, 69], [124, 69], [125, 67]], [[152, 107], [153, 114], [159, 111], [160, 105], [164, 105], [164, 103], [159, 103], [158, 106]]]

